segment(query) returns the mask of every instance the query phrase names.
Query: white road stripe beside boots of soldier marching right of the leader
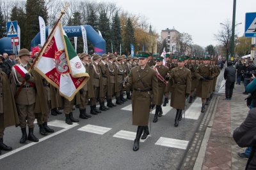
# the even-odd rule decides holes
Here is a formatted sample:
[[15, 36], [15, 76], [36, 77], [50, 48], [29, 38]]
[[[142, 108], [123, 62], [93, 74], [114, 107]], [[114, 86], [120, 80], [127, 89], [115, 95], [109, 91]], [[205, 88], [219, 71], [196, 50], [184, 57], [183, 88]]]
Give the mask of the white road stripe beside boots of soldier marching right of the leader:
[[[189, 108], [185, 111], [185, 119], [189, 118], [193, 120], [198, 120], [201, 114], [200, 112], [201, 107], [202, 107], [201, 98], [197, 97], [193, 102], [193, 104], [191, 104]], [[184, 117], [184, 113], [183, 113], [183, 117]]]

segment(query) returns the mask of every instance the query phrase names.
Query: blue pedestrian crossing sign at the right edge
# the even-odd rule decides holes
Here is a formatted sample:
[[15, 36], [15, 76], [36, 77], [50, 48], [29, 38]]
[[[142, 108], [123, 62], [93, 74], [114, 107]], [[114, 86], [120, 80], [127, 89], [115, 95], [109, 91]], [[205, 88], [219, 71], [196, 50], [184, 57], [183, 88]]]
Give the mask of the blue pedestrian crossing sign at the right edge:
[[245, 33], [246, 37], [256, 37], [256, 12], [245, 14]]

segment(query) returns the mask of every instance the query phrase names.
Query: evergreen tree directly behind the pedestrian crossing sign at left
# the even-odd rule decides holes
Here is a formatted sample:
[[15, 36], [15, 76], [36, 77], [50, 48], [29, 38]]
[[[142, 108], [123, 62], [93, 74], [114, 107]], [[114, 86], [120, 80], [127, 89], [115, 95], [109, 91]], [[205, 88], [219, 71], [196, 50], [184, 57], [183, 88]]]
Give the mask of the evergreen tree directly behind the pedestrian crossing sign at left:
[[26, 25], [25, 25], [25, 20], [26, 20], [26, 14], [22, 10], [22, 8], [17, 8], [17, 6], [14, 6], [12, 8], [12, 13], [11, 13], [11, 20], [17, 20], [18, 25], [20, 27], [20, 46], [22, 47], [24, 45], [25, 41], [25, 30], [26, 30]]

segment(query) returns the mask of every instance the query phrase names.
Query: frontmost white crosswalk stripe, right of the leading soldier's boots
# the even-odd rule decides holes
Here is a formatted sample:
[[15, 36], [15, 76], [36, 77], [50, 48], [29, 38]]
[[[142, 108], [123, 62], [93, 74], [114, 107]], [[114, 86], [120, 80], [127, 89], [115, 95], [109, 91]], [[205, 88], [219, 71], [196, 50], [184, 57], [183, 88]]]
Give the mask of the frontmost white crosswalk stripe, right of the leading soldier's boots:
[[158, 141], [155, 143], [155, 145], [167, 146], [167, 147], [171, 147], [171, 148], [179, 148], [182, 150], [186, 150], [188, 143], [189, 143], [189, 141], [160, 137], [158, 139]]

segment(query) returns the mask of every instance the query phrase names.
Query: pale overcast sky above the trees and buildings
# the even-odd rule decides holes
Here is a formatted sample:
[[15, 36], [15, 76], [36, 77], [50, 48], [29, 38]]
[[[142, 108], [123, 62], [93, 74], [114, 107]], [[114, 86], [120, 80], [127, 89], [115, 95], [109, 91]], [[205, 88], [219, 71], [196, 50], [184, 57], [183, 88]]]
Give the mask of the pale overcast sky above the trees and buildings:
[[[193, 43], [201, 46], [216, 45], [214, 34], [221, 22], [232, 22], [233, 0], [101, 0], [114, 2], [123, 10], [144, 15], [159, 34], [162, 29], [175, 27], [191, 34]], [[98, 1], [98, 2], [101, 2]], [[256, 12], [256, 0], [237, 0], [236, 32], [243, 36], [245, 13]]]

